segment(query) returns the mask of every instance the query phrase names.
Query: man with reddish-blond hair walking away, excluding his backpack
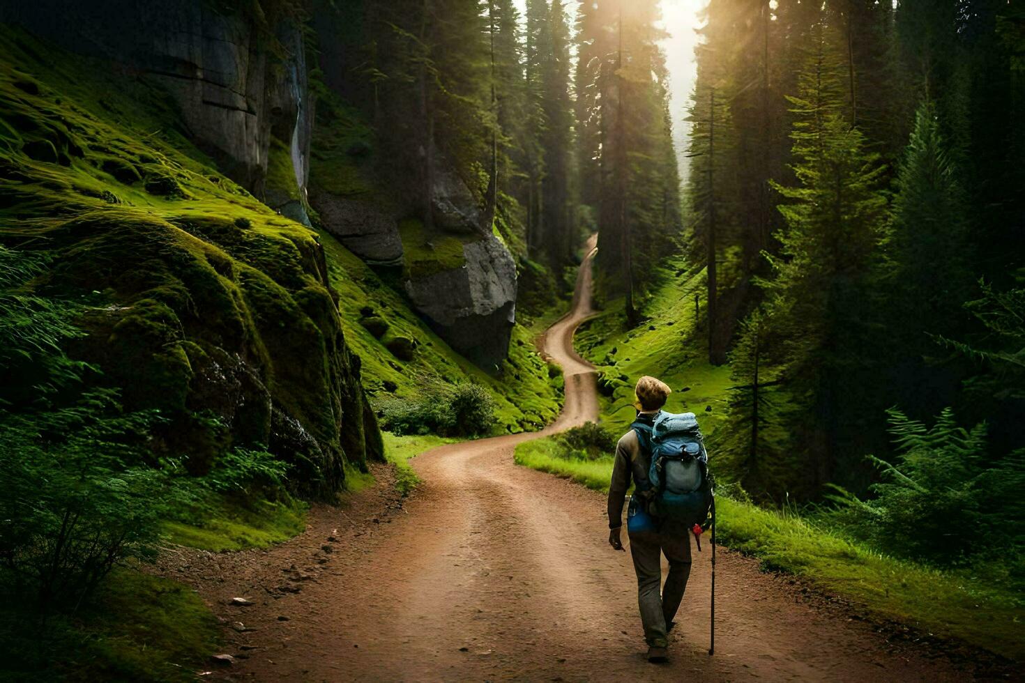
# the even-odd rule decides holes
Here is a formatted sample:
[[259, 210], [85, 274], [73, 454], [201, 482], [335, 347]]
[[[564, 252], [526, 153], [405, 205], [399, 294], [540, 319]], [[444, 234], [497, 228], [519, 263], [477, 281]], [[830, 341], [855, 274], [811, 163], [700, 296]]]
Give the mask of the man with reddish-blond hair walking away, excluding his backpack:
[[[637, 422], [652, 425], [665, 404], [671, 389], [654, 377], [638, 380]], [[632, 480], [637, 490], [649, 488], [648, 473], [651, 453], [642, 443], [637, 429], [623, 434], [616, 444], [616, 462], [609, 487], [609, 545], [622, 550], [623, 499]], [[689, 529], [671, 520], [659, 521], [649, 518], [646, 505], [634, 495], [630, 498], [630, 518], [639, 515], [637, 522], [629, 524], [630, 554], [633, 569], [638, 575], [638, 602], [641, 606], [641, 623], [648, 643], [648, 660], [665, 661], [668, 645], [668, 631], [672, 628], [672, 617], [687, 588], [691, 573], [691, 541]], [[669, 561], [669, 575], [665, 589], [659, 594], [662, 580], [661, 553]]]

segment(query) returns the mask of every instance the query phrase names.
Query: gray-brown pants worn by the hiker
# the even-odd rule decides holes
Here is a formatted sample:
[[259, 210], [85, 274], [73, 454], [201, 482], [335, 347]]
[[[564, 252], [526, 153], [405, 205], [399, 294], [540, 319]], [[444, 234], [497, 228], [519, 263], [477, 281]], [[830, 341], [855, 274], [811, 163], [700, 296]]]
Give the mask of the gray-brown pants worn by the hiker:
[[[633, 570], [638, 574], [644, 637], [649, 645], [665, 647], [668, 644], [666, 625], [676, 615], [687, 579], [691, 575], [691, 535], [685, 528], [662, 528], [629, 537]], [[665, 589], [659, 594], [662, 553], [669, 560], [669, 575], [665, 578]]]

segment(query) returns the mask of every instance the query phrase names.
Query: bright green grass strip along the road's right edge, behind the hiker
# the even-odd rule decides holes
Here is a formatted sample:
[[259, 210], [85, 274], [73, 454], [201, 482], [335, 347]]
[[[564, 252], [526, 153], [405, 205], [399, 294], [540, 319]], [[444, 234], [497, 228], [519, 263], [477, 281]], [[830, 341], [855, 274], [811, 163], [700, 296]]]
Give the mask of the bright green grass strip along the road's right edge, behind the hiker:
[[[521, 443], [516, 462], [607, 493], [613, 459], [561, 457], [549, 438]], [[766, 510], [720, 494], [719, 540], [758, 558], [768, 570], [813, 581], [865, 605], [876, 616], [943, 638], [957, 638], [1012, 659], [1025, 657], [1020, 593], [995, 588], [970, 571], [940, 571], [883, 555], [813, 520]]]

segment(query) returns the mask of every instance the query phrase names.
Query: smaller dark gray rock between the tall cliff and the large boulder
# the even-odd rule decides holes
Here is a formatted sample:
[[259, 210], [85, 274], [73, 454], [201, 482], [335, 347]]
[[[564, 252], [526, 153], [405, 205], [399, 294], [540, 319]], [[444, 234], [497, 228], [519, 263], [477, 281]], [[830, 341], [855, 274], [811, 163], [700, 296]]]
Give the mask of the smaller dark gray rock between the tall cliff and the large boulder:
[[364, 261], [371, 265], [402, 264], [402, 239], [395, 216], [367, 202], [324, 191], [316, 184], [311, 187], [310, 202], [327, 231]]

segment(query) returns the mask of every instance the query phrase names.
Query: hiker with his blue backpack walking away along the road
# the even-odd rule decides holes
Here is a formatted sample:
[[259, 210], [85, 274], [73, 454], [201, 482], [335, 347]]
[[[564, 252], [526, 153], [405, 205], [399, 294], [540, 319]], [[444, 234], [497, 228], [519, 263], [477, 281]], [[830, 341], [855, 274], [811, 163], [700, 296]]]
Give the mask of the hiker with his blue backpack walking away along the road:
[[[639, 409], [637, 421], [616, 444], [616, 460], [609, 487], [609, 545], [622, 550], [623, 499], [630, 481], [634, 483], [634, 494], [630, 497], [627, 512], [627, 533], [633, 569], [638, 577], [638, 602], [648, 643], [648, 660], [653, 663], [666, 660], [668, 631], [673, 627], [672, 618], [683, 600], [691, 573], [692, 524], [704, 524], [704, 514], [708, 510], [705, 497], [710, 504], [711, 496], [705, 467], [707, 454], [694, 415], [688, 413], [675, 416], [661, 410], [670, 391], [664, 382], [654, 377], [646, 376], [638, 380], [634, 389], [638, 399], [636, 407]], [[657, 458], [662, 464], [672, 459], [676, 459], [676, 463], [665, 469], [654, 470], [653, 449], [658, 450]], [[674, 455], [663, 456], [670, 452]], [[676, 455], [686, 456], [688, 453], [691, 457], [683, 460]], [[687, 467], [692, 468], [694, 473], [688, 474]], [[658, 482], [651, 481], [653, 476], [659, 478], [659, 471], [668, 473], [668, 476], [661, 477], [661, 486]], [[685, 493], [676, 495], [673, 492], [680, 488], [676, 484], [681, 472], [685, 479], [690, 478], [689, 483], [684, 484]], [[665, 483], [666, 479], [669, 480], [668, 484]], [[690, 509], [681, 512], [673, 507], [676, 502], [684, 502]], [[694, 532], [700, 533], [697, 528], [694, 528]], [[660, 595], [661, 553], [669, 561], [669, 574]]]

